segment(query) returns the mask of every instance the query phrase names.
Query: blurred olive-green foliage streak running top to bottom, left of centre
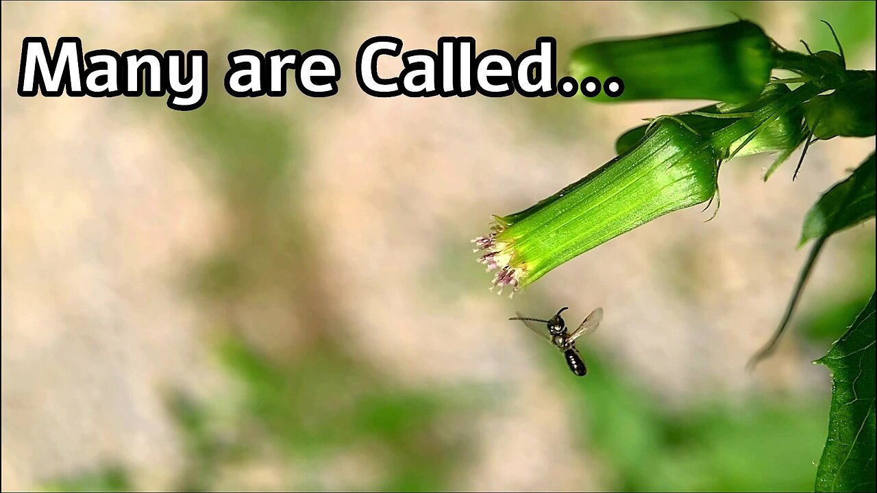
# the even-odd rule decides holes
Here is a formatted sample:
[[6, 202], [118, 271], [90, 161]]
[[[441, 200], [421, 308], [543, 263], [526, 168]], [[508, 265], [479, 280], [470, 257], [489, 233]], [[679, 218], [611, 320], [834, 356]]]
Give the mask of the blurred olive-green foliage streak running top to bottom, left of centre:
[[[332, 49], [352, 6], [255, 3], [243, 4], [242, 9], [274, 25], [283, 44], [306, 50]], [[449, 473], [459, 470], [465, 458], [462, 437], [449, 433], [447, 426], [439, 429], [448, 415], [459, 411], [454, 397], [435, 389], [400, 388], [348, 357], [324, 330], [334, 327], [337, 332], [343, 321], [320, 289], [325, 267], [300, 216], [296, 190], [307, 156], [296, 144], [296, 130], [296, 117], [289, 112], [273, 114], [229, 97], [214, 99], [210, 110], [201, 111], [189, 125], [196, 141], [215, 156], [210, 162], [216, 168], [208, 172], [217, 177], [217, 192], [226, 197], [234, 229], [245, 233], [232, 235], [230, 247], [203, 263], [196, 276], [200, 296], [218, 304], [220, 313], [228, 304], [240, 304], [248, 293], [288, 298], [289, 318], [312, 327], [315, 336], [305, 341], [307, 349], [278, 359], [236, 335], [242, 327], [228, 328], [219, 349], [225, 367], [241, 384], [240, 405], [219, 413], [214, 408], [220, 403], [193, 404], [181, 396], [172, 400], [171, 409], [189, 444], [182, 488], [216, 488], [214, 480], [223, 468], [258, 460], [266, 444], [279, 450], [289, 466], [318, 463], [324, 472], [332, 471], [332, 461], [339, 456], [367, 450], [360, 460], [377, 461], [381, 473], [375, 483], [360, 485], [365, 489], [448, 488]], [[278, 276], [278, 270], [290, 275]], [[235, 289], [229, 291], [224, 283]], [[282, 323], [266, 318], [258, 330], [282, 331]], [[218, 414], [238, 431], [232, 433], [231, 443], [219, 439], [216, 426], [210, 425], [220, 421]], [[307, 469], [298, 469], [300, 474], [286, 488], [333, 489]]]

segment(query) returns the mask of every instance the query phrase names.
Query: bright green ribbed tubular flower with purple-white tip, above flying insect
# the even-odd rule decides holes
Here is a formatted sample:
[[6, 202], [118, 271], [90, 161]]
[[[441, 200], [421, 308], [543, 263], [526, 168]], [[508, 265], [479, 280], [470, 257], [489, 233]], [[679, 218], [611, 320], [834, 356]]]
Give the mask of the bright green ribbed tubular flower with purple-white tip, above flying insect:
[[718, 158], [709, 139], [660, 118], [629, 152], [529, 209], [495, 217], [493, 232], [473, 240], [479, 261], [497, 270], [500, 292], [524, 288], [638, 225], [709, 200]]

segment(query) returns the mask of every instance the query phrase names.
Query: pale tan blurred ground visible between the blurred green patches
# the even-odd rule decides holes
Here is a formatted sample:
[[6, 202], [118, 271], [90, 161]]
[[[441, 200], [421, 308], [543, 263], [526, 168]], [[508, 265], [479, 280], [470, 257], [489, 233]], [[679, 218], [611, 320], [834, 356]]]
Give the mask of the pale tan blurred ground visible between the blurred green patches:
[[[579, 39], [575, 25], [599, 37], [706, 22], [695, 8], [689, 16], [638, 4], [544, 8], [564, 12], [563, 39]], [[181, 272], [229, 234], [230, 214], [200, 171], [209, 156], [193, 151], [178, 131], [182, 117], [167, 108], [18, 97], [21, 39], [42, 35], [53, 46], [58, 36], [79, 35], [86, 50], [200, 47], [211, 65], [225, 63], [216, 46], [281, 46], [271, 30], [239, 22], [236, 9], [3, 4], [3, 489], [32, 489], [108, 460], [132, 466], [139, 488], [166, 487], [182, 453], [160, 389], [228, 391], [203, 344], [215, 314], [180, 287]], [[771, 9], [759, 21], [792, 45], [805, 19], [795, 4]], [[661, 218], [568, 262], [513, 301], [491, 296], [489, 275], [460, 263], [472, 257], [468, 240], [485, 231], [490, 214], [522, 209], [595, 169], [612, 157], [614, 136], [639, 118], [693, 105], [569, 101], [581, 106], [568, 120], [581, 130], [552, 139], [526, 116], [535, 103], [373, 98], [344, 71], [360, 42], [378, 34], [402, 38], [406, 50], [463, 34], [481, 48], [524, 49], [503, 42], [502, 19], [503, 4], [494, 3], [363, 5], [336, 43], [345, 73], [338, 96], [235, 103], [290, 121], [307, 111], [297, 198], [322, 254], [317, 275], [339, 318], [351, 322], [339, 328], [351, 347], [400, 384], [499, 382], [510, 392], [510, 404], [479, 424], [476, 460], [457, 487], [601, 488], [598, 451], [582, 458], [594, 464], [587, 470], [552, 461], [582, 453], [566, 431], [566, 404], [545, 385], [531, 334], [504, 321], [528, 297], [568, 304], [573, 318], [602, 305], [605, 321], [588, 343], [670, 400], [821, 388], [827, 376], [792, 343], [751, 377], [743, 367], [802, 265], [800, 218], [873, 139], [814, 146], [794, 184], [794, 162], [767, 183], [760, 171], [768, 157], [725, 165], [713, 221], [703, 224], [709, 212], [700, 208]], [[561, 61], [570, 47], [559, 47]], [[873, 57], [872, 50], [851, 65], [873, 68]], [[223, 97], [211, 92], [206, 104]], [[867, 235], [873, 223], [830, 243], [803, 304], [842, 289], [854, 271], [842, 247]], [[302, 334], [334, 329], [296, 326], [277, 296], [254, 295], [239, 314], [276, 322], [261, 324], [275, 332], [257, 339], [294, 347]], [[248, 474], [255, 484], [272, 475]], [[339, 481], [337, 488], [351, 484]]]

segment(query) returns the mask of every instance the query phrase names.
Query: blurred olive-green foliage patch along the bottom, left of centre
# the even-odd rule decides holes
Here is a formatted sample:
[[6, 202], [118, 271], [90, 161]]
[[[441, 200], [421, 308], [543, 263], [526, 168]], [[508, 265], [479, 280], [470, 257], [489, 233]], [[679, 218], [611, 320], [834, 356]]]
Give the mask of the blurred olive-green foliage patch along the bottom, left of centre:
[[[282, 486], [296, 490], [448, 489], [452, 471], [465, 465], [465, 429], [455, 432], [453, 423], [465, 422], [459, 413], [466, 405], [453, 393], [400, 388], [329, 349], [278, 362], [228, 339], [219, 354], [240, 384], [242, 398], [230, 398], [231, 409], [179, 393], [169, 400], [188, 451], [182, 490], [221, 488], [216, 479], [225, 468], [264, 460], [265, 449], [278, 451], [281, 464], [296, 470]], [[376, 462], [376, 482], [326, 485], [301, 469], [316, 465], [323, 478], [332, 476], [344, 467], [335, 459], [355, 452], [365, 453], [360, 461]]]

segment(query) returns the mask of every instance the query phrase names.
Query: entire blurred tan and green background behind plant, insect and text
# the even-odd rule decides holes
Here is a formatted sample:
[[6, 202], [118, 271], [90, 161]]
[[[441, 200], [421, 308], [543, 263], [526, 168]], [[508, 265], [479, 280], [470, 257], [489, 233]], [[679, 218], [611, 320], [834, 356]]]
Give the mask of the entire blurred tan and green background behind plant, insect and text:
[[[802, 218], [873, 139], [722, 168], [721, 209], [660, 218], [513, 300], [469, 239], [704, 102], [389, 99], [357, 48], [471, 35], [518, 54], [750, 18], [874, 68], [874, 4], [12, 3], [3, 18], [3, 489], [812, 490], [831, 380], [810, 361], [874, 287], [873, 221], [828, 243], [777, 354]], [[15, 92], [21, 40], [205, 49], [196, 111]], [[331, 50], [339, 95], [237, 99], [239, 48]], [[396, 73], [398, 61], [381, 70]], [[390, 72], [395, 71], [395, 72]], [[510, 322], [560, 306], [584, 378]]]

